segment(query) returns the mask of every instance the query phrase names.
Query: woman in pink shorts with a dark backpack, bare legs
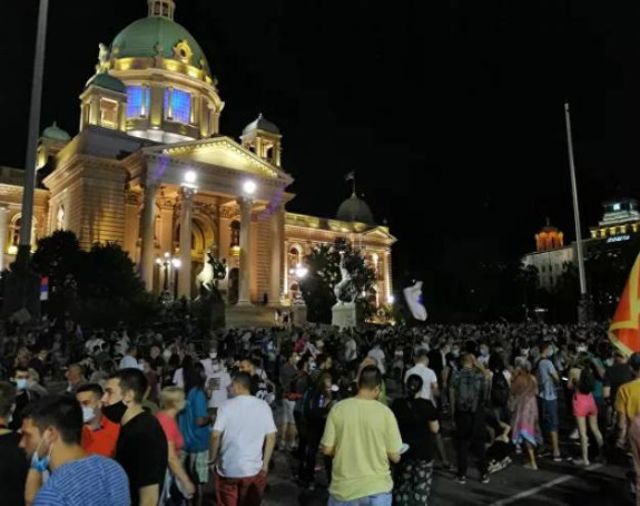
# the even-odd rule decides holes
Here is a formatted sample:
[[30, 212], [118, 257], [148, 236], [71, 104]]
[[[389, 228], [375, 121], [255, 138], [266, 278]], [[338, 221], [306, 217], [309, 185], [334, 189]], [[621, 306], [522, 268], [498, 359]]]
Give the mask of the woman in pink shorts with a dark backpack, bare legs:
[[593, 372], [589, 353], [581, 352], [578, 356], [575, 367], [569, 372], [568, 388], [573, 391], [573, 416], [578, 425], [580, 446], [582, 448], [582, 458], [575, 460], [575, 464], [578, 466], [590, 466], [587, 421], [589, 421], [589, 428], [595, 438], [600, 455], [602, 454], [603, 439], [600, 428], [598, 427], [598, 407], [593, 399], [595, 373]]

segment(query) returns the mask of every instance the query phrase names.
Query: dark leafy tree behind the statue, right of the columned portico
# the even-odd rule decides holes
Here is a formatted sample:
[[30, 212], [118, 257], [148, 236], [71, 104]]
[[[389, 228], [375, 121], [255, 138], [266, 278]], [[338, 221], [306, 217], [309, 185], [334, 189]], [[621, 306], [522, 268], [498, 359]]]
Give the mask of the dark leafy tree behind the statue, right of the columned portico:
[[365, 317], [375, 310], [366, 299], [375, 285], [375, 271], [366, 264], [361, 250], [344, 239], [337, 239], [331, 245], [316, 246], [305, 257], [308, 273], [301, 288], [309, 321], [331, 323], [331, 309], [336, 303], [334, 288], [342, 280], [341, 253], [344, 255], [344, 266], [352, 276], [356, 293], [360, 294], [356, 302], [361, 304]]

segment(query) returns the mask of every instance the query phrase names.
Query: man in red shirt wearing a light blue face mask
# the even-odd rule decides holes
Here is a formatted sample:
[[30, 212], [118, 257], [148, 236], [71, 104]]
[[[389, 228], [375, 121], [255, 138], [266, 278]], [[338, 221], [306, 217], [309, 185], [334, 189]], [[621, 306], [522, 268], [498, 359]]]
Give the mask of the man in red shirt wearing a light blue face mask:
[[120, 426], [102, 416], [102, 388], [98, 383], [83, 385], [76, 393], [82, 408], [82, 448], [89, 455], [112, 458], [120, 434]]

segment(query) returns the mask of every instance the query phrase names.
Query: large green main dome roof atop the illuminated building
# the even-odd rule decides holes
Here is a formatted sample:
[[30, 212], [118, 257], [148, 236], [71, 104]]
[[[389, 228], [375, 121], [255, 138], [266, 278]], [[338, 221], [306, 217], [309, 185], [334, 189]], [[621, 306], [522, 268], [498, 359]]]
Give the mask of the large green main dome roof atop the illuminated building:
[[152, 58], [158, 53], [158, 46], [163, 48], [165, 58], [174, 58], [174, 47], [186, 40], [191, 51], [191, 65], [203, 68], [209, 74], [209, 64], [194, 37], [177, 22], [161, 17], [149, 17], [134, 21], [114, 39], [111, 58]]

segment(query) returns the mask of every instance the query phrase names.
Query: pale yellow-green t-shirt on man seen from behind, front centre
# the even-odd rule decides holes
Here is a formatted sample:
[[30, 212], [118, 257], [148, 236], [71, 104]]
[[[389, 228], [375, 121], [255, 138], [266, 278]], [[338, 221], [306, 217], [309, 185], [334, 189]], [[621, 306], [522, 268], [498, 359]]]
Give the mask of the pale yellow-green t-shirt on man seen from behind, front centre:
[[402, 438], [391, 409], [376, 400], [346, 399], [329, 412], [322, 440], [335, 447], [329, 493], [341, 502], [393, 489], [387, 454]]

